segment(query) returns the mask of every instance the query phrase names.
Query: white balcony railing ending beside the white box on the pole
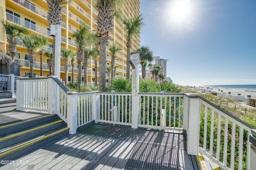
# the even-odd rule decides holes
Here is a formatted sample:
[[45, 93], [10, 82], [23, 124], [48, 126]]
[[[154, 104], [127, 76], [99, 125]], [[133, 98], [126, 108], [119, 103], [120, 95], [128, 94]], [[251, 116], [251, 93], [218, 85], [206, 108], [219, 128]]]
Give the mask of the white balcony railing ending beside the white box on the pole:
[[47, 29], [39, 27], [39, 26], [37, 26], [33, 23], [30, 23], [26, 20], [18, 18], [16, 16], [12, 15], [12, 14], [6, 13], [6, 20], [11, 21], [13, 23], [16, 23], [18, 25], [21, 25], [23, 27], [26, 27], [30, 30], [33, 30], [33, 31], [37, 32], [37, 33], [40, 33], [40, 34], [43, 34], [43, 35], [46, 35], [46, 36], [50, 36], [50, 31], [48, 31]]

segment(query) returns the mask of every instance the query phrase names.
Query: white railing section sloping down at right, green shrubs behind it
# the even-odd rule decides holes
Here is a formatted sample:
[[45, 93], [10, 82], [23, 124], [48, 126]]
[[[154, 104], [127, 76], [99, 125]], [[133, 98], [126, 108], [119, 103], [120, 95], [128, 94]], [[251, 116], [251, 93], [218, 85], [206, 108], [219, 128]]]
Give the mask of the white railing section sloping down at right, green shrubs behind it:
[[249, 137], [254, 127], [204, 98], [200, 109], [199, 151], [224, 170], [250, 170]]

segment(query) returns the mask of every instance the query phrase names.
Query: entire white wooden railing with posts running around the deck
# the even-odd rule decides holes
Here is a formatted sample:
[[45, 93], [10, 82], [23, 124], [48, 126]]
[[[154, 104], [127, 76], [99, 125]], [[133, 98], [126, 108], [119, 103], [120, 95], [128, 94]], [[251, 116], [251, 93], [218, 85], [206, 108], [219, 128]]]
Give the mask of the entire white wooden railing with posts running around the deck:
[[[136, 98], [138, 104], [132, 105]], [[92, 121], [119, 125], [177, 130], [186, 137], [188, 154], [206, 155], [224, 170], [256, 167], [252, 130], [234, 115], [199, 94], [69, 92], [54, 76], [17, 79], [17, 110], [56, 113], [74, 134]], [[136, 109], [134, 109], [136, 108]], [[138, 111], [133, 111], [138, 110]], [[252, 140], [252, 139], [251, 139]], [[255, 144], [256, 145], [256, 144]]]

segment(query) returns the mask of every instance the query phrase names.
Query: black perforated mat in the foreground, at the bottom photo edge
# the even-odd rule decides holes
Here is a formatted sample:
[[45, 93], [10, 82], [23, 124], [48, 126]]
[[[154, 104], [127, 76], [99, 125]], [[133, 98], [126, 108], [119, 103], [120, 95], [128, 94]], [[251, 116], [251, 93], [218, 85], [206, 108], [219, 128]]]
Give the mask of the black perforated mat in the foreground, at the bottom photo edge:
[[125, 170], [181, 170], [176, 147], [136, 142]]

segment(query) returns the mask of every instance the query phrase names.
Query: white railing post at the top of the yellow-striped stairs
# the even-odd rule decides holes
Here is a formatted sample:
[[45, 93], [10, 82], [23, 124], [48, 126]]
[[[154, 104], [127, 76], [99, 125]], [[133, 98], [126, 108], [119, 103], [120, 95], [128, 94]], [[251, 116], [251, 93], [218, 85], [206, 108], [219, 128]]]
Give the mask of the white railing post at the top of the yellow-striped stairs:
[[54, 109], [56, 108], [56, 100], [58, 98], [57, 87], [56, 84], [54, 84], [53, 78], [57, 78], [57, 76], [48, 77], [48, 114], [54, 113]]

